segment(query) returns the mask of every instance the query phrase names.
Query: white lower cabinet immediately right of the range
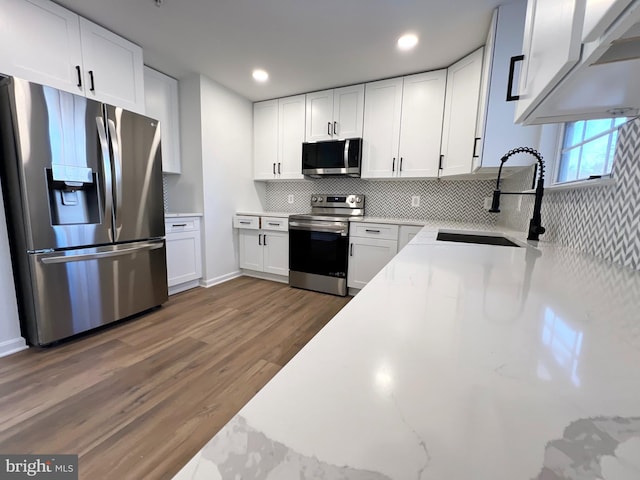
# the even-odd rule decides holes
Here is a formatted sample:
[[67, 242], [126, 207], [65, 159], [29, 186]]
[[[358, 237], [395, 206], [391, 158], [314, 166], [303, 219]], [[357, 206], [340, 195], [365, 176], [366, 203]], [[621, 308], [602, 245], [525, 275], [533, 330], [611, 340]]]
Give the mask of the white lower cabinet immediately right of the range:
[[361, 289], [398, 253], [398, 226], [353, 223], [350, 230], [347, 286]]

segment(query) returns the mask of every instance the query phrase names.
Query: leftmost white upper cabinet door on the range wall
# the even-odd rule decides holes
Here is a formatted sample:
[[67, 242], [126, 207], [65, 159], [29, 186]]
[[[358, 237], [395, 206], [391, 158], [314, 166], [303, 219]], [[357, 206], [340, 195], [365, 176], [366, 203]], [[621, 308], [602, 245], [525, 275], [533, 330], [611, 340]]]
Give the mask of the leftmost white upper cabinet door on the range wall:
[[[300, 154], [302, 162], [302, 154]], [[278, 100], [253, 104], [253, 178], [276, 178], [278, 163]]]

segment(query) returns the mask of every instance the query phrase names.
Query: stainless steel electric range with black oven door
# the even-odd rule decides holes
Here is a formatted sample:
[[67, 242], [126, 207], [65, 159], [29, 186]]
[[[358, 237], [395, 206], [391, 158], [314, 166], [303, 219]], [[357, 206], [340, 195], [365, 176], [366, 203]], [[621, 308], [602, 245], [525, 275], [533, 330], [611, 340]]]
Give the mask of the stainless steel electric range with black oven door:
[[289, 217], [289, 285], [347, 295], [349, 222], [364, 218], [364, 195], [313, 195], [311, 213]]

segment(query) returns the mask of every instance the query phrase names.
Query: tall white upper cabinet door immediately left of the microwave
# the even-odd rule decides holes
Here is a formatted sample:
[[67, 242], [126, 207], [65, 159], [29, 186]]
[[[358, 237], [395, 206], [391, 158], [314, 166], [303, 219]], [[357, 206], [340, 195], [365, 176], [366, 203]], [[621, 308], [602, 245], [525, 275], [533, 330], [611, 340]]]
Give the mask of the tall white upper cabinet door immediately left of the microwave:
[[299, 180], [302, 175], [302, 142], [304, 142], [305, 96], [278, 100], [278, 165], [277, 178]]

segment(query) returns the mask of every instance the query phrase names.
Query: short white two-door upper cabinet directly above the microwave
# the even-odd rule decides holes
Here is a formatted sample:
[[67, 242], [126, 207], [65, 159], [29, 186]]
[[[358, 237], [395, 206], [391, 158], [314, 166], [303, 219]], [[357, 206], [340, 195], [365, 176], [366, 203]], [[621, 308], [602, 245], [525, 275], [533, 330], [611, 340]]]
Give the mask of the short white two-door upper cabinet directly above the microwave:
[[307, 142], [362, 137], [364, 85], [306, 95]]

